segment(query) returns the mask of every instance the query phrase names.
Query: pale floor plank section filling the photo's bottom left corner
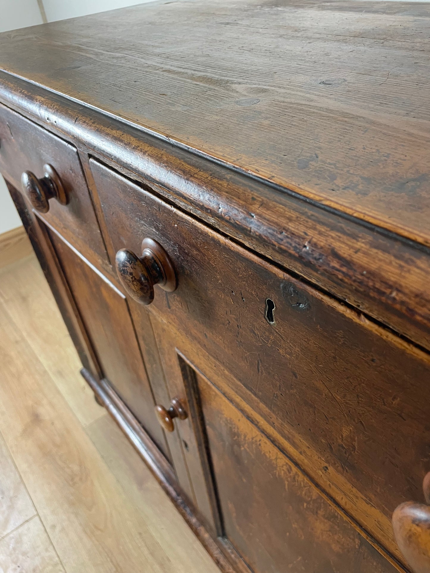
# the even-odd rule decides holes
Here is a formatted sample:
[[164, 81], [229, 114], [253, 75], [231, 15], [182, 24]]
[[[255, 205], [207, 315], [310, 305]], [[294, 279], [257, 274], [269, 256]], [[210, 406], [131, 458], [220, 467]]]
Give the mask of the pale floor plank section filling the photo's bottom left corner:
[[39, 517], [0, 539], [2, 573], [65, 573]]

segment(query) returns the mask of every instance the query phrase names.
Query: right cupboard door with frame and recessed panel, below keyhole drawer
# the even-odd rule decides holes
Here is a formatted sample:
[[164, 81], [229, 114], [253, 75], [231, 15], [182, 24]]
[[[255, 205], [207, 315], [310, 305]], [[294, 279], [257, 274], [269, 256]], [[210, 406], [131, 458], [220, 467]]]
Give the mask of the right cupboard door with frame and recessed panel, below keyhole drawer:
[[185, 444], [194, 501], [239, 570], [245, 562], [255, 573], [394, 573], [273, 442], [222, 364], [155, 312], [151, 320], [171, 398], [188, 414], [174, 419], [174, 431]]

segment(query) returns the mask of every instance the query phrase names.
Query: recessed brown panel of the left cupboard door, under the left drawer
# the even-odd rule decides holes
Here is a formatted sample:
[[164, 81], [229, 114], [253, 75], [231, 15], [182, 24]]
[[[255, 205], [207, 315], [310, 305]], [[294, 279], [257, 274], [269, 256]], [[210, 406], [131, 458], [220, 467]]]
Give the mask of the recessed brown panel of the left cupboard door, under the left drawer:
[[56, 233], [49, 236], [103, 376], [169, 457], [126, 297]]

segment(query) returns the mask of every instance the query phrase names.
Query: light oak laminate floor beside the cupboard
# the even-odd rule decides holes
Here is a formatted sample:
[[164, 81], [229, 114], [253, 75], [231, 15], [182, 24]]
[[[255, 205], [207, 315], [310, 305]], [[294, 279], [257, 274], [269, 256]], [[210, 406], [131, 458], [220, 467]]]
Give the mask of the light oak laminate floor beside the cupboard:
[[0, 269], [0, 573], [217, 573], [80, 367], [36, 258]]

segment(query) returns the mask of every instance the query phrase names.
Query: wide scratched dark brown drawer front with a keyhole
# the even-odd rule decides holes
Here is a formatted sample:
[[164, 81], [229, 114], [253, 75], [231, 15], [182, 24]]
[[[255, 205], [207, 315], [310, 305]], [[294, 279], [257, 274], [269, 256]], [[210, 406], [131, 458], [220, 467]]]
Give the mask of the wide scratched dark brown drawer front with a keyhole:
[[91, 169], [115, 250], [140, 256], [150, 237], [173, 262], [178, 288], [155, 287], [151, 313], [191, 341], [201, 371], [209, 356], [237, 380], [306, 472], [389, 543], [393, 509], [423, 498], [430, 469], [427, 355], [149, 190]]

